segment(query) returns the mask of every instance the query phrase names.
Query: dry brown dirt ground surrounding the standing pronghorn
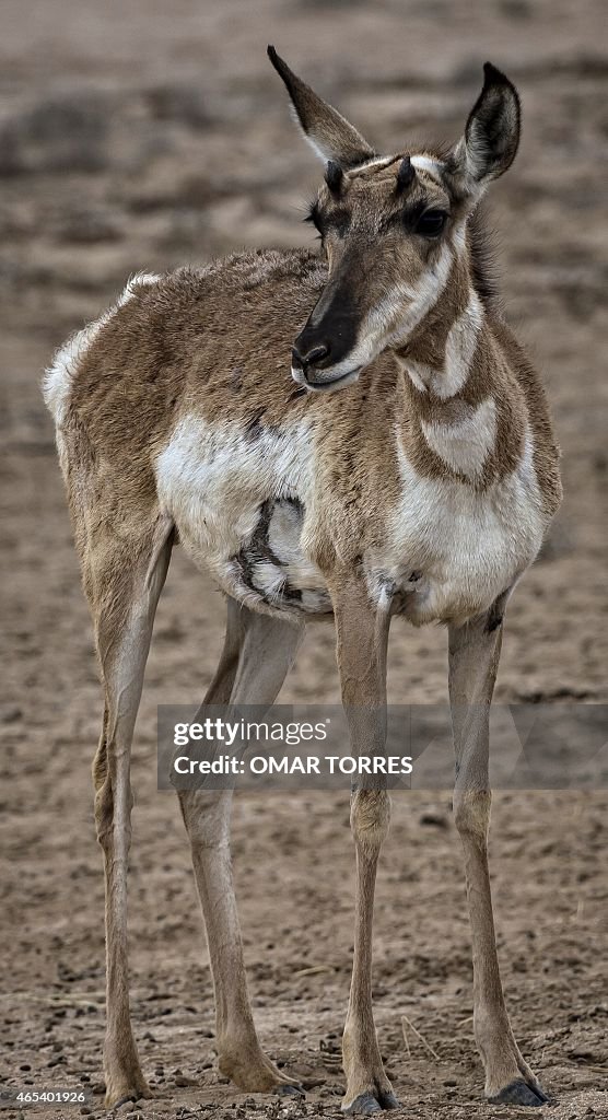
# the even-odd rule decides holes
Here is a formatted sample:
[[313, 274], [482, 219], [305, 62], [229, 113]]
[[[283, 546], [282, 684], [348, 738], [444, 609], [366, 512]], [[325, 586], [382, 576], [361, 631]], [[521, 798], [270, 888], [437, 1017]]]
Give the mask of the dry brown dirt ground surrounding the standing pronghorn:
[[[412, 136], [456, 138], [486, 57], [518, 84], [524, 142], [495, 187], [494, 216], [508, 314], [554, 410], [565, 501], [509, 608], [497, 698], [608, 699], [602, 7], [3, 0], [0, 1089], [84, 1085], [92, 1095], [81, 1111], [103, 1111], [103, 881], [90, 784], [100, 691], [40, 372], [130, 273], [309, 242], [299, 218], [318, 168], [266, 63], [269, 40], [386, 150]], [[307, 1086], [306, 1102], [246, 1098], [214, 1068], [207, 953], [177, 806], [156, 788], [155, 726], [158, 703], [204, 691], [223, 616], [221, 596], [177, 550], [134, 745], [133, 1019], [155, 1089], [138, 1114], [331, 1116], [352, 960], [346, 793], [247, 794], [234, 813], [255, 1017], [269, 1053]], [[446, 698], [445, 637], [394, 626], [394, 700]], [[337, 699], [330, 627], [310, 629], [282, 699]], [[495, 799], [507, 1001], [554, 1096], [540, 1114], [553, 1120], [608, 1117], [607, 809], [606, 791]], [[448, 793], [395, 797], [374, 979], [381, 1048], [404, 1102], [397, 1116], [521, 1114], [481, 1101]]]

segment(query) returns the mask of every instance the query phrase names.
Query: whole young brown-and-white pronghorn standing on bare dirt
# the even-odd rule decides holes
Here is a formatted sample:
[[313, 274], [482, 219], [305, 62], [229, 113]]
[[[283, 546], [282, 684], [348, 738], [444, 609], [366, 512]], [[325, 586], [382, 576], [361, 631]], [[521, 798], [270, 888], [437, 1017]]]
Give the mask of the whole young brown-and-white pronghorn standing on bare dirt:
[[[129, 1009], [130, 749], [179, 539], [227, 596], [205, 702], [272, 704], [306, 622], [333, 616], [354, 753], [383, 748], [391, 616], [447, 624], [485, 1092], [541, 1104], [505, 1009], [487, 865], [488, 712], [503, 614], [561, 493], [544, 393], [503, 321], [476, 214], [515, 157], [518, 96], [486, 64], [451, 149], [380, 157], [272, 47], [269, 56], [326, 166], [310, 211], [320, 254], [262, 250], [137, 277], [57, 353], [45, 383], [105, 690], [93, 776], [106, 881], [106, 1102], [149, 1092]], [[247, 1092], [298, 1092], [253, 1023], [231, 793], [181, 792], [180, 804], [206, 922], [219, 1068]], [[346, 1112], [397, 1104], [372, 1010], [374, 883], [389, 815], [384, 788], [354, 790]]]

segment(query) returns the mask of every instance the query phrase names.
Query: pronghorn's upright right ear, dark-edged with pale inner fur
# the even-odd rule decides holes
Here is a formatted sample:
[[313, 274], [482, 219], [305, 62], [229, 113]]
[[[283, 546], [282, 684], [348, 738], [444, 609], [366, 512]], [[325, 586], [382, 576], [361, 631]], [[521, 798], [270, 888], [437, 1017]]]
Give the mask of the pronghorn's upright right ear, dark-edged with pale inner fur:
[[511, 167], [520, 144], [521, 109], [515, 86], [492, 63], [484, 66], [484, 88], [473, 106], [451, 165], [475, 190]]

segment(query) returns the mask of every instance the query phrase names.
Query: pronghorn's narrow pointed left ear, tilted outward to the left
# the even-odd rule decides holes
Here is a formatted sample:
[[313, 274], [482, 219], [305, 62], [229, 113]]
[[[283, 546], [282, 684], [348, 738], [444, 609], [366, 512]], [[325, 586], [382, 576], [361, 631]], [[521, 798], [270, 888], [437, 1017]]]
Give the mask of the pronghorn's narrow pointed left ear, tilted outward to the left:
[[319, 97], [309, 85], [290, 71], [274, 47], [268, 57], [282, 77], [297, 120], [311, 148], [324, 164], [338, 164], [344, 170], [364, 164], [375, 153], [346, 118]]

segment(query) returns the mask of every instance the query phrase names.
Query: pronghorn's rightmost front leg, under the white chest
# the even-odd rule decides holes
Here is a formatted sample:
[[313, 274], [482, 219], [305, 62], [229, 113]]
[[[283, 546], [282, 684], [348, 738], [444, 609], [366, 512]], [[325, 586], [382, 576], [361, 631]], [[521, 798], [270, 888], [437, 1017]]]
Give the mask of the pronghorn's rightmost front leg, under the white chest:
[[498, 969], [487, 837], [492, 794], [488, 778], [489, 706], [498, 669], [502, 616], [507, 594], [487, 614], [449, 627], [449, 688], [456, 749], [453, 812], [465, 850], [473, 939], [475, 1038], [493, 1102], [540, 1105], [546, 1101], [524, 1062], [505, 1007]]

